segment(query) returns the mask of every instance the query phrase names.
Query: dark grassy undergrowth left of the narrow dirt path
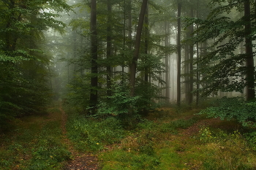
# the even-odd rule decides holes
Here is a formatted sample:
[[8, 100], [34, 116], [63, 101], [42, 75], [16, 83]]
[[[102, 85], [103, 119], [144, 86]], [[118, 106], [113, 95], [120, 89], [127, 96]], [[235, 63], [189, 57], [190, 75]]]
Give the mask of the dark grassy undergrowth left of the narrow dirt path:
[[61, 169], [70, 157], [62, 142], [61, 112], [15, 120], [1, 136], [0, 169]]

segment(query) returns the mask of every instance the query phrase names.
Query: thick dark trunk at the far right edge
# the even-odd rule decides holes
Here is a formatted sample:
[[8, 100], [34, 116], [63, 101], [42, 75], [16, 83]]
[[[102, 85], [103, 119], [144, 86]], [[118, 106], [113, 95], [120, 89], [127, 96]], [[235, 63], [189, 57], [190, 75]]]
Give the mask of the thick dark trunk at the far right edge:
[[250, 1], [244, 0], [244, 18], [245, 18], [245, 51], [246, 51], [246, 100], [252, 100], [255, 98], [255, 66], [252, 53], [252, 33], [251, 20], [250, 20]]

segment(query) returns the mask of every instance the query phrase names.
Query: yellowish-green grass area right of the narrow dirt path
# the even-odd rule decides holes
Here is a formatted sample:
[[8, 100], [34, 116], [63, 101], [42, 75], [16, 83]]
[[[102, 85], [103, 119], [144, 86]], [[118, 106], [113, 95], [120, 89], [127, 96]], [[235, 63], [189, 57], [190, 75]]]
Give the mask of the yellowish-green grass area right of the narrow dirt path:
[[151, 115], [112, 150], [99, 152], [102, 169], [256, 169], [254, 147], [237, 130], [241, 127], [236, 121], [219, 121], [220, 128], [199, 125], [193, 136], [187, 136], [180, 129], [208, 118], [194, 116], [195, 110], [179, 112], [178, 118], [175, 112], [169, 114], [157, 120]]

